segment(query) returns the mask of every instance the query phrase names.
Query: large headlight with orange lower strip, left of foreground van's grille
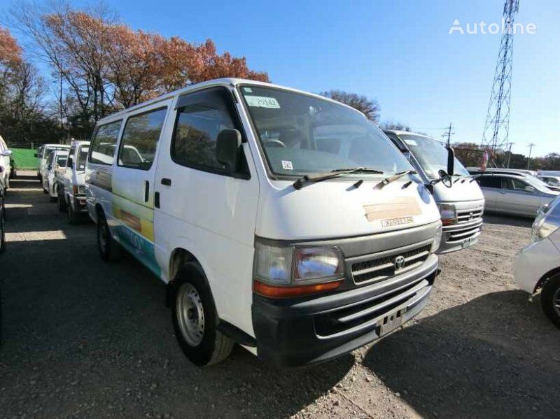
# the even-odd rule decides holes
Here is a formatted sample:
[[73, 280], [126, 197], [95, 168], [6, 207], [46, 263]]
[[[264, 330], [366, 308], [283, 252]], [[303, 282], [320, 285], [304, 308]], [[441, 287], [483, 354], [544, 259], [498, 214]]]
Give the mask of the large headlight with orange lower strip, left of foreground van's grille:
[[342, 283], [342, 252], [333, 246], [276, 246], [255, 242], [255, 292], [291, 297], [332, 290]]

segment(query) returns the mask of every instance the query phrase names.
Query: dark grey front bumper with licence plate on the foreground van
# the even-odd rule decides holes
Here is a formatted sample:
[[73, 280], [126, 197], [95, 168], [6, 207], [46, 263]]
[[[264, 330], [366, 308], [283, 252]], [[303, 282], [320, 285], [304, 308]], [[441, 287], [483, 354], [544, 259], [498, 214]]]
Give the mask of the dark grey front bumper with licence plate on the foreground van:
[[253, 293], [258, 357], [300, 367], [349, 353], [400, 328], [428, 303], [437, 256], [388, 280], [297, 299]]

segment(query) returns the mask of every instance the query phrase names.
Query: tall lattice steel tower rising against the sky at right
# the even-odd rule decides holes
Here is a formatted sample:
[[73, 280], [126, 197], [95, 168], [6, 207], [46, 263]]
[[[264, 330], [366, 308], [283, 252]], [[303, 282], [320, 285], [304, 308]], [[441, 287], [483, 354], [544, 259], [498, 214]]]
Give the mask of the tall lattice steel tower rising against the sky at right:
[[513, 24], [519, 11], [519, 0], [505, 0], [503, 6], [503, 34], [494, 73], [490, 103], [484, 123], [482, 146], [496, 150], [507, 148], [510, 141], [510, 97], [512, 90]]

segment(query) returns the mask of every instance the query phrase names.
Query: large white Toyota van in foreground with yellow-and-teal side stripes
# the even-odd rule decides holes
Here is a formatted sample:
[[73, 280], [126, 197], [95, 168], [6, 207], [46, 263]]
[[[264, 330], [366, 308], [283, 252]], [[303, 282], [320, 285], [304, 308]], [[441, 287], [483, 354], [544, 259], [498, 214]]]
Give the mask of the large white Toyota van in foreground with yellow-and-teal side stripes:
[[349, 106], [220, 79], [99, 121], [85, 182], [102, 258], [125, 248], [168, 284], [190, 360], [218, 362], [237, 342], [291, 367], [426, 305], [441, 220], [411, 171]]

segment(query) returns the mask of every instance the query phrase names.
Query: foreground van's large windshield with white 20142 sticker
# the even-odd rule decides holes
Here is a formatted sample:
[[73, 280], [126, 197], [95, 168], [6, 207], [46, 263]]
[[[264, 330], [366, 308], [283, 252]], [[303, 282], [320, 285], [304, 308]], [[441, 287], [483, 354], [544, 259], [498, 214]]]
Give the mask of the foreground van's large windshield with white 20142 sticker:
[[346, 106], [272, 87], [243, 85], [240, 91], [277, 175], [365, 167], [386, 176], [412, 169], [379, 128]]

